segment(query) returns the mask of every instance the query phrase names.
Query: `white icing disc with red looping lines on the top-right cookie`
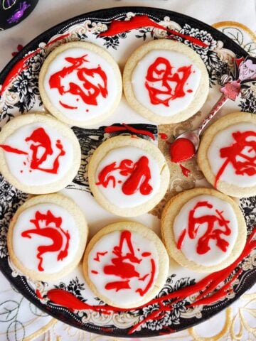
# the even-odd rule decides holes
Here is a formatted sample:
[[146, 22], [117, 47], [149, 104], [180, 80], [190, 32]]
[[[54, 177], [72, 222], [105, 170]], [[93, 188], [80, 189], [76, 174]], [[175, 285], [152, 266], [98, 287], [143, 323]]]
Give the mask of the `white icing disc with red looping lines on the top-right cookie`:
[[[160, 71], [156, 73], [155, 71], [152, 73], [153, 77], [158, 79], [154, 82], [149, 82], [146, 80], [146, 75], [148, 73], [150, 65], [154, 65], [157, 58], [165, 58], [166, 64], [159, 63], [157, 67], [154, 67], [155, 70]], [[169, 72], [167, 68], [173, 67]], [[165, 100], [170, 98], [176, 92], [177, 82], [173, 79], [174, 77], [179, 77], [180, 80], [184, 79], [183, 72], [181, 70], [177, 72], [179, 67], [189, 66], [191, 65], [191, 73], [186, 79], [186, 82], [183, 86], [183, 90], [185, 95], [183, 97], [177, 97], [173, 99], [169, 99], [167, 104], [153, 104], [150, 99], [149, 90], [146, 88], [145, 83], [150, 87], [156, 88], [157, 90], [162, 90], [164, 92], [168, 92], [168, 94], [158, 94], [157, 97], [161, 100]], [[171, 87], [170, 90], [166, 89], [166, 86], [163, 84], [163, 75], [166, 72], [166, 84]], [[134, 95], [137, 100], [146, 108], [154, 112], [154, 114], [158, 114], [164, 117], [172, 116], [181, 110], [186, 109], [188, 105], [192, 102], [196, 90], [200, 84], [201, 80], [201, 70], [193, 63], [193, 61], [183, 53], [178, 53], [175, 51], [169, 50], [152, 50], [147, 53], [142, 60], [139, 61], [136, 67], [132, 72], [132, 87], [134, 90]]]

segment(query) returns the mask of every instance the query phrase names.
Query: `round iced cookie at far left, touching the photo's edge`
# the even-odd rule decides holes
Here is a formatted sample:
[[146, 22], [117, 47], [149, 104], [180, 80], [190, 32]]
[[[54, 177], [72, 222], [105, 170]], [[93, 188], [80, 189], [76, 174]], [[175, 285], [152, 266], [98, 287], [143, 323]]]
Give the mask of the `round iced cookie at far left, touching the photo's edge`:
[[62, 190], [75, 178], [80, 162], [75, 134], [50, 115], [20, 115], [0, 132], [0, 171], [23, 192]]

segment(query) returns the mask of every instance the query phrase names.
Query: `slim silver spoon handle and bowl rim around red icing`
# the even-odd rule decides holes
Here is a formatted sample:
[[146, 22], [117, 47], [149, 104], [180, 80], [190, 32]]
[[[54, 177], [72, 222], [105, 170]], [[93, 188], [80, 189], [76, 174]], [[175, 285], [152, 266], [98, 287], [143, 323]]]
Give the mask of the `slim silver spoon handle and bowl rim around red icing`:
[[[186, 131], [185, 133], [182, 133], [181, 135], [177, 136], [174, 141], [170, 144], [174, 144], [174, 142], [177, 139], [187, 139], [189, 141], [192, 142], [193, 146], [194, 146], [194, 150], [195, 153], [198, 150], [199, 144], [200, 144], [200, 135], [203, 131], [203, 129], [207, 126], [207, 124], [210, 122], [210, 120], [215, 116], [215, 114], [217, 114], [217, 112], [220, 110], [220, 108], [223, 107], [223, 105], [225, 104], [225, 102], [228, 101], [228, 96], [226, 94], [222, 94], [221, 97], [218, 99], [218, 101], [214, 104], [213, 108], [210, 110], [210, 113], [206, 116], [206, 118], [203, 120], [203, 122], [201, 123], [201, 125], [193, 130], [193, 131]], [[192, 158], [193, 155], [191, 157], [186, 158], [186, 160], [188, 160], [189, 158]], [[185, 160], [183, 160], [185, 161]]]

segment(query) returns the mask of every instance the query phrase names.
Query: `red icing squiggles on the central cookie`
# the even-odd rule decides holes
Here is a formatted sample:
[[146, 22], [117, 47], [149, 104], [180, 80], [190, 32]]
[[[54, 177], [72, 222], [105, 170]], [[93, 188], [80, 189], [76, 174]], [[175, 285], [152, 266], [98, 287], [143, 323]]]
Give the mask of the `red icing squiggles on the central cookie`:
[[133, 195], [138, 191], [142, 195], [149, 195], [153, 188], [149, 184], [151, 180], [151, 173], [149, 168], [149, 159], [146, 156], [139, 158], [139, 161], [134, 163], [132, 160], [124, 159], [116, 166], [117, 163], [113, 162], [105, 166], [100, 171], [98, 178], [99, 181], [96, 185], [102, 185], [107, 188], [110, 181], [112, 186], [115, 188], [116, 178], [112, 174], [114, 171], [119, 171], [120, 175], [128, 177], [122, 185], [122, 193], [125, 195]]

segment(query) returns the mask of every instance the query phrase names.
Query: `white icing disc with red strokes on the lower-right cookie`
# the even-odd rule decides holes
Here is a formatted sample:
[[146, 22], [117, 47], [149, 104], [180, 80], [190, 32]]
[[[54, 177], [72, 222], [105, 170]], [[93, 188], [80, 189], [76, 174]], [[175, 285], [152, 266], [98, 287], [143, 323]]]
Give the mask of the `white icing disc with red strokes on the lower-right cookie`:
[[[213, 207], [206, 207], [204, 204], [201, 204], [203, 206], [196, 207], [198, 202], [208, 202], [208, 204]], [[193, 209], [195, 209], [194, 212], [191, 212], [193, 217], [201, 217], [201, 220], [194, 220], [194, 224], [191, 224], [191, 228], [189, 229], [189, 212]], [[218, 212], [216, 212], [216, 210]], [[210, 216], [208, 217], [209, 220], [207, 220], [206, 216]], [[208, 242], [203, 243], [203, 239], [209, 236], [209, 233], [218, 234], [218, 232], [216, 232], [218, 229], [225, 231], [225, 225], [220, 226], [223, 224], [221, 216], [228, 221], [226, 224], [228, 224], [230, 233], [222, 233], [219, 237], [215, 236], [216, 238], [210, 238]], [[213, 222], [212, 227], [210, 227], [210, 221]], [[191, 220], [191, 222], [193, 222], [193, 220]], [[187, 259], [194, 261], [196, 264], [213, 266], [215, 264], [220, 264], [221, 261], [228, 258], [230, 255], [238, 237], [238, 220], [232, 206], [228, 202], [220, 200], [218, 197], [214, 197], [212, 195], [198, 195], [183, 205], [181, 211], [174, 220], [173, 230], [176, 244], [178, 244], [178, 240], [184, 229], [186, 230], [186, 234], [183, 239], [183, 243], [181, 243], [181, 251], [183, 255], [186, 256]], [[191, 234], [193, 234], [194, 230], [194, 238], [189, 237], [189, 230], [191, 231]], [[228, 244], [224, 242], [224, 244], [226, 244], [226, 251], [223, 251], [223, 249], [218, 247], [217, 243], [223, 243], [223, 240], [220, 239], [224, 239], [225, 242], [228, 242]], [[206, 251], [206, 249], [208, 249], [208, 251]]]

